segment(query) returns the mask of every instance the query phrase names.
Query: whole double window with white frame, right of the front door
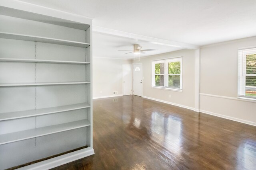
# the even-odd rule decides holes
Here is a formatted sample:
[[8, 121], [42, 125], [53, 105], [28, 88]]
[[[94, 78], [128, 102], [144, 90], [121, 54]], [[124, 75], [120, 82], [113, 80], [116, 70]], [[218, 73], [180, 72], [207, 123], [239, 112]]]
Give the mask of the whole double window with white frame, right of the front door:
[[152, 61], [152, 86], [182, 90], [182, 57]]

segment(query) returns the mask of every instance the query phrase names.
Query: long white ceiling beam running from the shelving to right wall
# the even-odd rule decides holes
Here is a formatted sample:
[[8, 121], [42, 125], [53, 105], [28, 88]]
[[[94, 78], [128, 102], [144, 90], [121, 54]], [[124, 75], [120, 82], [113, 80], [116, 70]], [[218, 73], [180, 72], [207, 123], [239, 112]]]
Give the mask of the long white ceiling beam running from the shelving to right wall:
[[198, 45], [192, 45], [192, 44], [186, 44], [186, 43], [180, 43], [176, 41], [169, 41], [166, 39], [158, 39], [158, 38], [153, 38], [153, 37], [147, 37], [144, 35], [138, 35], [138, 34], [133, 34], [133, 33], [127, 33], [123, 31], [118, 31], [114, 29], [108, 29], [104, 27], [99, 27], [92, 25], [92, 31], [94, 33], [102, 33], [105, 35], [114, 35], [117, 37], [126, 37], [130, 39], [134, 39], [136, 41], [146, 41], [152, 44], [158, 44], [158, 45], [165, 45], [165, 46], [170, 46], [170, 47], [178, 47], [182, 49], [199, 49]]

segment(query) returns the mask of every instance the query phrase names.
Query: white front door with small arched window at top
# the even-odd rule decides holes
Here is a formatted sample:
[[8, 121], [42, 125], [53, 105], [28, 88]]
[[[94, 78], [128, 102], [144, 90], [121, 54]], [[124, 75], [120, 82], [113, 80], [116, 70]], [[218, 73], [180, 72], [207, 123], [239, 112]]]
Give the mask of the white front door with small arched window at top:
[[142, 96], [142, 64], [133, 64], [133, 94]]

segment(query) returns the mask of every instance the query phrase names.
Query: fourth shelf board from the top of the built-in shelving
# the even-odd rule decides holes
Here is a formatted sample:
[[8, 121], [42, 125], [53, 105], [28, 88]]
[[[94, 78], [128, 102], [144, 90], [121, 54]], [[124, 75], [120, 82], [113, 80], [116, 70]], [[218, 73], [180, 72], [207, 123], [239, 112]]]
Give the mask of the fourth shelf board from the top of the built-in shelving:
[[49, 107], [49, 108], [43, 108], [43, 109], [0, 113], [0, 121], [10, 120], [10, 119], [19, 119], [24, 117], [32, 117], [32, 116], [38, 116], [38, 115], [46, 115], [46, 114], [52, 114], [52, 113], [59, 113], [64, 111], [77, 110], [77, 109], [84, 109], [87, 107], [90, 107], [88, 103], [80, 103], [80, 104], [72, 104], [72, 105], [66, 105], [66, 106]]

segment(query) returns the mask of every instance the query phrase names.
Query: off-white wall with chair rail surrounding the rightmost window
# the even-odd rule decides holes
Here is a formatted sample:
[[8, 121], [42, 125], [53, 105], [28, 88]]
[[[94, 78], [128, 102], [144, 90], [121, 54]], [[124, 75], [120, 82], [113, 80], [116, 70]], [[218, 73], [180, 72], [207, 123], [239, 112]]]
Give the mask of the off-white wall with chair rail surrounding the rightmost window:
[[202, 47], [200, 111], [256, 125], [256, 102], [237, 99], [238, 48], [256, 46], [256, 37]]

